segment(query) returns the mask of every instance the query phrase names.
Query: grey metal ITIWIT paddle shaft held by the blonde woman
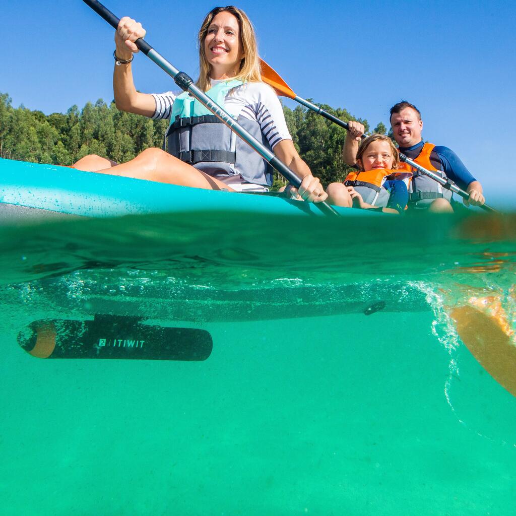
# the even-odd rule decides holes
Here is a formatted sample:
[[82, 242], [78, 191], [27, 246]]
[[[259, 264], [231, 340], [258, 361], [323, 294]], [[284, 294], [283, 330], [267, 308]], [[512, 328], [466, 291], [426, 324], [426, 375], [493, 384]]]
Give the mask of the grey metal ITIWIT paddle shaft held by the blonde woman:
[[[91, 7], [97, 14], [99, 14], [106, 22], [108, 22], [115, 29], [118, 28], [120, 19], [109, 11], [97, 0], [83, 0], [85, 4]], [[227, 111], [224, 111], [217, 103], [210, 99], [204, 91], [193, 84], [193, 80], [185, 72], [180, 72], [175, 68], [169, 61], [167, 61], [162, 55], [158, 54], [149, 43], [143, 39], [135, 41], [136, 46], [140, 49], [147, 57], [156, 63], [162, 70], [168, 73], [182, 90], [188, 91], [195, 99], [197, 99], [206, 109], [211, 111], [216, 117], [218, 117], [224, 124], [226, 124], [231, 131], [236, 133], [246, 143], [249, 144], [257, 153], [259, 153], [263, 159], [266, 160], [269, 165], [277, 170], [283, 177], [291, 184], [296, 187], [301, 185], [301, 180], [298, 176], [289, 169], [276, 155], [263, 143], [259, 142], [251, 134], [249, 134], [243, 126], [241, 126]], [[339, 215], [334, 208], [332, 208], [326, 202], [314, 203], [321, 212], [327, 215]]]

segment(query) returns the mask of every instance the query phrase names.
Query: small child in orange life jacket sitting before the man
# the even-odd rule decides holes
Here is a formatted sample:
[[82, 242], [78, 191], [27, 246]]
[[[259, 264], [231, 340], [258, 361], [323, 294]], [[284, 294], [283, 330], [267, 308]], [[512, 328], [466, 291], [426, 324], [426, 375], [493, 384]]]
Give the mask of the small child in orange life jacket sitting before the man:
[[[348, 138], [354, 135], [350, 133]], [[356, 160], [359, 171], [349, 173], [344, 183], [328, 185], [330, 204], [402, 213], [409, 198], [405, 180], [411, 173], [396, 172], [399, 152], [392, 140], [381, 134], [367, 137], [362, 141]]]

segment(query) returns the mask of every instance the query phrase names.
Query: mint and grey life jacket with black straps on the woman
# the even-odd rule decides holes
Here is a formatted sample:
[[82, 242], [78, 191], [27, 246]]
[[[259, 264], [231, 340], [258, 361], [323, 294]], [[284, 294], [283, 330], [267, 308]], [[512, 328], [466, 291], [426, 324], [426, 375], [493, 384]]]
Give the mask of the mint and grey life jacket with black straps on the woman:
[[[206, 95], [224, 108], [225, 96], [242, 84], [240, 80], [223, 81]], [[243, 116], [237, 121], [270, 149], [258, 122]], [[172, 156], [208, 175], [224, 178], [240, 174], [249, 183], [272, 185], [272, 167], [188, 92], [174, 101], [165, 139]]]

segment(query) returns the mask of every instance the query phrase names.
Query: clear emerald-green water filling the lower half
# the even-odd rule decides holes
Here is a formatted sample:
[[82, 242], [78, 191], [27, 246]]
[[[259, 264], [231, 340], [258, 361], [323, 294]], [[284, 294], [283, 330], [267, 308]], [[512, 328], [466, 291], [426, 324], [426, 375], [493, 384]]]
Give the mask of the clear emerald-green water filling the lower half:
[[[0, 513], [512, 516], [516, 398], [448, 314], [496, 294], [514, 327], [515, 220], [0, 228]], [[35, 319], [99, 312], [207, 329], [213, 352], [42, 360], [17, 344]]]

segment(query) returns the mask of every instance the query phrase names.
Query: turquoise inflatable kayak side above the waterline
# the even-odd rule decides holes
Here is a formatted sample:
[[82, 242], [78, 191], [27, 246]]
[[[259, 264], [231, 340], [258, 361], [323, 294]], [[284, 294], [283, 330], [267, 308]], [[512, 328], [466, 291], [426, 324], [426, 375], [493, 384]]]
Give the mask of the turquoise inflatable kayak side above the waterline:
[[[196, 211], [247, 211], [268, 214], [322, 215], [302, 201], [267, 195], [235, 195], [68, 167], [0, 159], [0, 219], [117, 217], [131, 214]], [[376, 213], [337, 208], [341, 214]]]

